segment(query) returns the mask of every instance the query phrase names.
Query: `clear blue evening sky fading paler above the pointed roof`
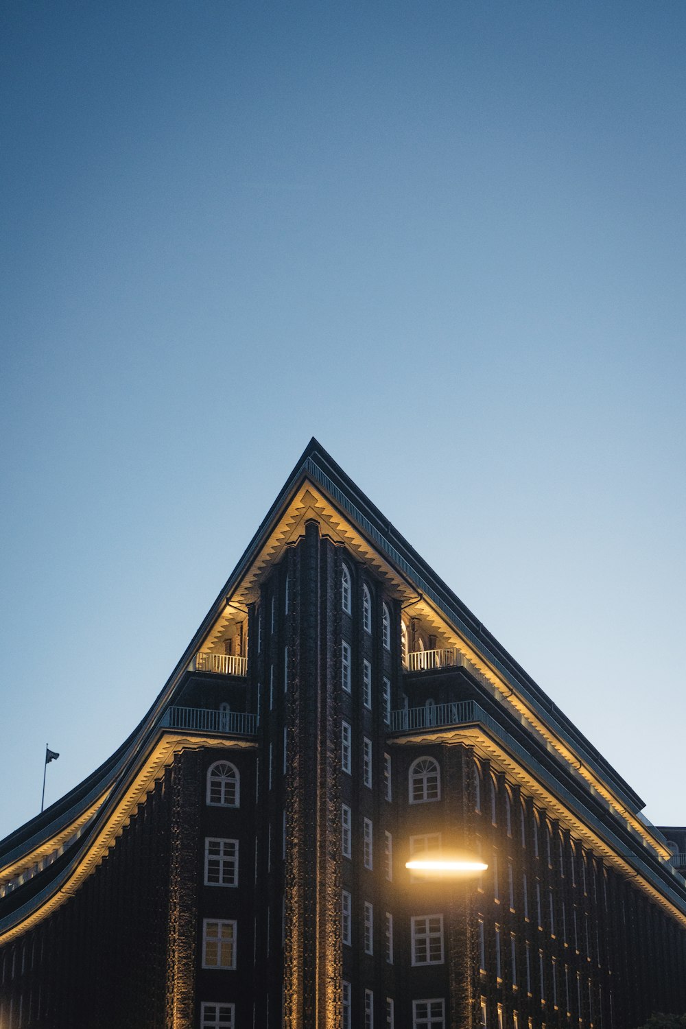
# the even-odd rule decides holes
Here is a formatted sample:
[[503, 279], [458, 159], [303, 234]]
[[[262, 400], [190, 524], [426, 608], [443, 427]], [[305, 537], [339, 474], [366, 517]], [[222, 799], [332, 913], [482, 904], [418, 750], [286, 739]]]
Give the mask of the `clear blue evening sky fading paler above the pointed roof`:
[[686, 824], [686, 5], [0, 12], [0, 837], [311, 436]]

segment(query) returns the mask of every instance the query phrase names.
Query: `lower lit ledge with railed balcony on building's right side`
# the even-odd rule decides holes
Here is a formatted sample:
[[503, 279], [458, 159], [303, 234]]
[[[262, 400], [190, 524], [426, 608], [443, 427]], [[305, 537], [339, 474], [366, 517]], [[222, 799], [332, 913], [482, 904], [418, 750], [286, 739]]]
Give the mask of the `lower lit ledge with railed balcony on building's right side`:
[[[392, 711], [391, 733], [389, 743], [398, 745], [460, 743], [474, 747], [523, 786], [586, 846], [601, 854], [686, 926], [686, 891], [678, 891], [678, 883], [673, 886], [658, 875], [657, 870], [650, 867], [639, 851], [642, 843], [637, 840], [636, 850], [628, 847], [615, 835], [609, 818], [602, 819], [593, 814], [583, 801], [554, 778], [549, 769], [474, 701]], [[655, 860], [658, 860], [657, 856]], [[669, 865], [660, 867], [665, 876], [674, 875]]]

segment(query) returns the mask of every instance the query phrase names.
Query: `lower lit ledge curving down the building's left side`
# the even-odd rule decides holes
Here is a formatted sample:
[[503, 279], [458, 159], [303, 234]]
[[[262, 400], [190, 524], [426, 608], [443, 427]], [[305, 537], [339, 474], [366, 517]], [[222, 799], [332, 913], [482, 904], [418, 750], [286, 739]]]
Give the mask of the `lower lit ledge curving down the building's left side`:
[[[177, 708], [170, 710], [197, 711], [200, 709]], [[206, 713], [219, 714], [219, 712]], [[240, 712], [230, 713], [239, 714]], [[182, 750], [198, 750], [204, 747], [252, 750], [257, 746], [254, 737], [248, 735], [242, 737], [239, 734], [229, 735], [224, 730], [181, 732], [167, 729], [161, 723], [159, 729], [156, 741], [134, 773], [134, 777], [115, 787], [111, 797], [96, 815], [93, 825], [83, 837], [84, 848], [74, 855], [67, 867], [44, 890], [0, 921], [0, 945], [4, 945], [33, 928], [76, 893], [85, 879], [98, 867], [109, 848], [114, 845], [116, 838], [128, 825], [138, 805], [145, 800], [155, 781], [165, 774], [165, 769], [172, 764], [175, 754]], [[214, 735], [215, 732], [217, 735]]]

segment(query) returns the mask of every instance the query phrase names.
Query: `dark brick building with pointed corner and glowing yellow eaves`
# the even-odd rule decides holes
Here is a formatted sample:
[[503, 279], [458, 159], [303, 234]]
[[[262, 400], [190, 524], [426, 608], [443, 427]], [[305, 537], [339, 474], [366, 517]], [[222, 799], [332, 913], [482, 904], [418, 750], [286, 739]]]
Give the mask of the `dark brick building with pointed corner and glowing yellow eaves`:
[[0, 1025], [634, 1029], [686, 1010], [642, 806], [312, 440], [141, 724], [0, 844]]

